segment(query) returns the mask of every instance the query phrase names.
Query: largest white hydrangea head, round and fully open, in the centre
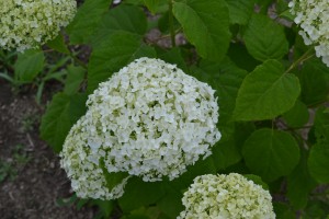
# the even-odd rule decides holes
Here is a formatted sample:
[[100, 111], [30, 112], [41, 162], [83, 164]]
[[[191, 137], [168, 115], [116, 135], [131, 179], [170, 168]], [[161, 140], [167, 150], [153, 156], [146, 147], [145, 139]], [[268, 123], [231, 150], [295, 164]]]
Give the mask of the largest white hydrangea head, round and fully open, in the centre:
[[136, 59], [89, 96], [89, 147], [106, 152], [110, 173], [173, 180], [220, 138], [214, 92], [174, 65]]

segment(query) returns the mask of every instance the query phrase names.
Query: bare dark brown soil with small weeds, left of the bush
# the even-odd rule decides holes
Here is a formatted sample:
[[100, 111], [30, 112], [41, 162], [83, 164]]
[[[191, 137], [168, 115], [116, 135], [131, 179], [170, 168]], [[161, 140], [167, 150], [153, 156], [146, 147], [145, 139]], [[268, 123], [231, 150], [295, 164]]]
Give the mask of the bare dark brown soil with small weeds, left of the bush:
[[91, 219], [92, 208], [58, 205], [72, 192], [58, 155], [38, 137], [44, 110], [34, 96], [13, 94], [0, 80], [0, 218]]

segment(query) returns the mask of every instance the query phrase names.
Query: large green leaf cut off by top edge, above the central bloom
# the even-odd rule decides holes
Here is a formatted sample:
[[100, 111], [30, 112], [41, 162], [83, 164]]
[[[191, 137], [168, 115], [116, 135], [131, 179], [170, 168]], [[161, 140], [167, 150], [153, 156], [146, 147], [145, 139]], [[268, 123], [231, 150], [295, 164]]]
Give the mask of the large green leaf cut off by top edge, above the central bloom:
[[224, 0], [174, 2], [173, 14], [201, 57], [214, 61], [224, 58], [230, 42], [229, 14]]

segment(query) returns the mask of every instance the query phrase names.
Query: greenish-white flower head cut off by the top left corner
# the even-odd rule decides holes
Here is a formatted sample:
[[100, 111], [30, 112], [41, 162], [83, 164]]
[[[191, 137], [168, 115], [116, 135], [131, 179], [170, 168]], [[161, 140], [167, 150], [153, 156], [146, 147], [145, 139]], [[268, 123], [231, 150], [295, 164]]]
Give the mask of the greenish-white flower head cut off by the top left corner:
[[75, 0], [0, 0], [0, 47], [37, 48], [54, 39], [76, 10]]

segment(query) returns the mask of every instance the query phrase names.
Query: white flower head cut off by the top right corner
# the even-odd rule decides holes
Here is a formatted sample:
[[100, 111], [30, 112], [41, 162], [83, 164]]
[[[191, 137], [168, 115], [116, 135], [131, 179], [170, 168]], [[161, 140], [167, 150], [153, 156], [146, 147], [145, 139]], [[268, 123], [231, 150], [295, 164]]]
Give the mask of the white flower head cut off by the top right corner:
[[315, 45], [317, 57], [329, 67], [329, 1], [292, 0], [291, 13], [302, 30], [298, 32], [306, 45]]

